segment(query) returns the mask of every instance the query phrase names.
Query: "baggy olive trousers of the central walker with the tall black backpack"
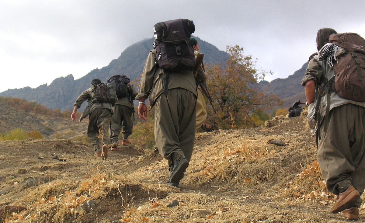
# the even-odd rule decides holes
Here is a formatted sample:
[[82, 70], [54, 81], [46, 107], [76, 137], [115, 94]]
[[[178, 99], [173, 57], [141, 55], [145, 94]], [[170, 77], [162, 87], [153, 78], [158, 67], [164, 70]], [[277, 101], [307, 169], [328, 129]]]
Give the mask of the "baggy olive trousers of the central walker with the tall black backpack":
[[170, 89], [155, 103], [155, 141], [171, 167], [176, 161], [191, 159], [195, 141], [196, 96], [183, 88]]

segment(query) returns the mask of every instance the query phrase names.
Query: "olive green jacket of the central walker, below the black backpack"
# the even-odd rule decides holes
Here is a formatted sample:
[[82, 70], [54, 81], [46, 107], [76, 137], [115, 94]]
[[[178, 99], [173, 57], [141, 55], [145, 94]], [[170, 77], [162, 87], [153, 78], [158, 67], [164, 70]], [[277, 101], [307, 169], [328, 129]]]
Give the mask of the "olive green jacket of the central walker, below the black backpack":
[[[156, 49], [153, 49], [146, 59], [145, 68], [143, 69], [141, 82], [139, 84], [138, 95], [135, 99], [139, 100], [143, 96], [146, 96], [146, 98], [149, 98], [152, 108], [157, 97], [165, 91], [167, 73], [169, 73], [168, 89], [184, 88], [197, 97], [196, 81], [193, 71], [181, 70], [178, 72], [167, 72], [161, 69], [156, 61]], [[198, 76], [200, 75], [199, 73]]]

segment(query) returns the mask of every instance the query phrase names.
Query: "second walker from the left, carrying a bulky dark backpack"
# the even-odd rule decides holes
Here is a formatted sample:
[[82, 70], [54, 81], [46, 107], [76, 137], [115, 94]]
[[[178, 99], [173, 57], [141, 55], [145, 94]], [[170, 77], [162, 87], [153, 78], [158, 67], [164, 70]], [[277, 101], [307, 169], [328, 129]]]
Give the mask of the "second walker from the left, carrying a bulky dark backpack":
[[122, 132], [122, 145], [129, 145], [128, 137], [133, 132], [134, 104], [133, 99], [137, 96], [137, 91], [130, 83], [130, 79], [125, 75], [114, 75], [108, 81], [116, 85], [116, 95], [118, 100], [115, 103], [114, 114], [111, 122], [111, 150], [118, 151], [118, 136]]

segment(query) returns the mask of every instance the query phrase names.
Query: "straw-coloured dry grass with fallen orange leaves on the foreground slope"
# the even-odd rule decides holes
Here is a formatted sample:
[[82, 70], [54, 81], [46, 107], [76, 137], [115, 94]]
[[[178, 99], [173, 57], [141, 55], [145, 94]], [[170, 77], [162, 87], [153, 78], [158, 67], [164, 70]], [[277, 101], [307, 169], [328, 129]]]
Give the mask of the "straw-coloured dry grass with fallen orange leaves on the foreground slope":
[[[34, 217], [18, 222], [343, 222], [328, 211], [334, 196], [323, 184], [305, 123], [305, 116], [277, 117], [270, 127], [197, 134], [181, 188], [165, 184], [168, 163], [155, 152], [118, 166], [100, 163], [77, 180], [27, 189], [14, 203], [30, 207], [23, 214]], [[81, 208], [86, 200], [97, 209]], [[174, 200], [178, 205], [169, 207]]]

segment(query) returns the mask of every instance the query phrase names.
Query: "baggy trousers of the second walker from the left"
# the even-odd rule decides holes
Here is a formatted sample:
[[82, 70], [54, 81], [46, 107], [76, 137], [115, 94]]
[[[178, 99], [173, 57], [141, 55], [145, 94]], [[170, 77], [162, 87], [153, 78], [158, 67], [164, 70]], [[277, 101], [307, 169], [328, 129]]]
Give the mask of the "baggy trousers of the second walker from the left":
[[118, 136], [123, 129], [123, 139], [128, 139], [128, 136], [133, 132], [133, 110], [125, 105], [116, 104], [114, 114], [112, 115], [112, 129], [110, 140], [112, 143], [118, 143]]

